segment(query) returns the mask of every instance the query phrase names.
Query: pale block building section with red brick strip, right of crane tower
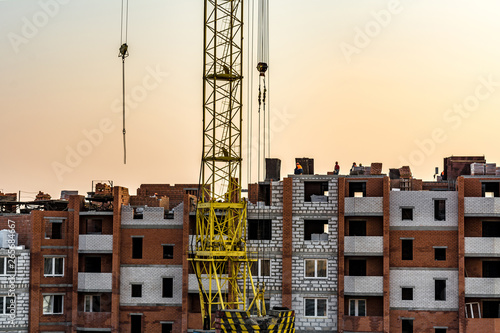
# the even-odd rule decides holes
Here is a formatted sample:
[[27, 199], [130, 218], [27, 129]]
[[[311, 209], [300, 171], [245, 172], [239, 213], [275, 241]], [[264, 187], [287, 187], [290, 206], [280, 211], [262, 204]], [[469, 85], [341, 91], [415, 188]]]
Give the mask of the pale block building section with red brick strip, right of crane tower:
[[296, 332], [337, 330], [338, 178], [291, 175], [249, 186], [248, 245], [268, 307], [295, 310]]

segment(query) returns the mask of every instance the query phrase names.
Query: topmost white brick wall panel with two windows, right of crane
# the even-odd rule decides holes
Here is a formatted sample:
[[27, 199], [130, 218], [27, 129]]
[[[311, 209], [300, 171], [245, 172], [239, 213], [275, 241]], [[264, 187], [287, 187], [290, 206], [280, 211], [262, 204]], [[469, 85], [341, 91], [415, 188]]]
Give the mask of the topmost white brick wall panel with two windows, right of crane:
[[[434, 199], [446, 199], [446, 219], [434, 219]], [[413, 220], [403, 221], [401, 207], [414, 207]], [[458, 227], [458, 192], [456, 191], [391, 191], [391, 227]]]

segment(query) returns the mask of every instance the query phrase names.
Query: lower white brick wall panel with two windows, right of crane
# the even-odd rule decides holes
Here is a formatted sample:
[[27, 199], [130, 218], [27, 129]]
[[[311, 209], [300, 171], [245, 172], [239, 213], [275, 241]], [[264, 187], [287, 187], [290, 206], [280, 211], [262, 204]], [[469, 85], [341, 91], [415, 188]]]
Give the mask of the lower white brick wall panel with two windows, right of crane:
[[[446, 300], [435, 300], [435, 279], [446, 279]], [[413, 288], [413, 300], [401, 300], [401, 288]], [[458, 270], [391, 269], [391, 308], [439, 311], [458, 309]], [[452, 310], [453, 311], [453, 310]]]

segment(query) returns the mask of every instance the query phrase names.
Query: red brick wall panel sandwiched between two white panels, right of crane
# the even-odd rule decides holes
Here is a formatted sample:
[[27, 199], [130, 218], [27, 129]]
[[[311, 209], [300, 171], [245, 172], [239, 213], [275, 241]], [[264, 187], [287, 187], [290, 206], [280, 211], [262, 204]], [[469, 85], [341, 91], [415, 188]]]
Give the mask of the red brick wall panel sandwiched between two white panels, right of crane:
[[[393, 230], [390, 232], [391, 267], [458, 267], [457, 231]], [[413, 239], [413, 260], [401, 259], [401, 237]], [[434, 260], [433, 246], [447, 246], [446, 260]]]

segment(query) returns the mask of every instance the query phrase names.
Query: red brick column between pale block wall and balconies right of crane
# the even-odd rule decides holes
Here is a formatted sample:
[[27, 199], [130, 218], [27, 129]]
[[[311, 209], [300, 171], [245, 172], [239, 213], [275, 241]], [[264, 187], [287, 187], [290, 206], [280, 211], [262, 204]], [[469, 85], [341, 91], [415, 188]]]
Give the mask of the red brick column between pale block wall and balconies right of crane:
[[338, 179], [338, 209], [339, 209], [339, 248], [338, 248], [338, 286], [337, 286], [337, 297], [338, 297], [338, 318], [337, 318], [337, 331], [338, 333], [344, 332], [344, 234], [345, 234], [345, 178], [339, 177]]

